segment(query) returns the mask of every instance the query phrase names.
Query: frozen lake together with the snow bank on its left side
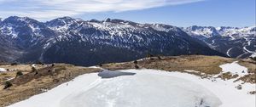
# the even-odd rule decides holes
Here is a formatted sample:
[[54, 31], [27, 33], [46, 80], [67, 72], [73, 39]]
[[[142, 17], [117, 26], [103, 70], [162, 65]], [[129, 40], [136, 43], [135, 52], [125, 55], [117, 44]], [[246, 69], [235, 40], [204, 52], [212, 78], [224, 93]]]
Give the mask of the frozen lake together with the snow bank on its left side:
[[201, 85], [154, 70], [85, 74], [11, 107], [218, 107]]

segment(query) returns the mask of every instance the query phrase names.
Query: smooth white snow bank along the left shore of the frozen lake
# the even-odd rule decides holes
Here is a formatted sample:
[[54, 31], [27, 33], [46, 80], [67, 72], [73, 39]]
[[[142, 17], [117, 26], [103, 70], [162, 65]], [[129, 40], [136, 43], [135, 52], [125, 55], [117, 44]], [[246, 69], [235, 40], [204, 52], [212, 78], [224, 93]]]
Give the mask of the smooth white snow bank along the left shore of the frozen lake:
[[[83, 92], [90, 88], [90, 84], [98, 82], [100, 79], [96, 73], [84, 74], [76, 77], [73, 81], [61, 84], [49, 90], [46, 93], [41, 93], [32, 96], [9, 107], [61, 107], [61, 100], [73, 93]], [[92, 86], [92, 85], [91, 85]]]

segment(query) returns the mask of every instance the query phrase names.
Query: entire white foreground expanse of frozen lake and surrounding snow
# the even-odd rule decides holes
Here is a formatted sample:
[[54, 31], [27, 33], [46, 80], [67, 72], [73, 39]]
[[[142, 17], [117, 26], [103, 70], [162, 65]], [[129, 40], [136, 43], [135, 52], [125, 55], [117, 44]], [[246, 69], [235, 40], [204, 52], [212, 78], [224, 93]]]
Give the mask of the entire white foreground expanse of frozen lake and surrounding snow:
[[255, 107], [255, 95], [248, 94], [255, 84], [242, 84], [238, 90], [241, 82], [233, 81], [163, 70], [104, 70], [9, 107]]

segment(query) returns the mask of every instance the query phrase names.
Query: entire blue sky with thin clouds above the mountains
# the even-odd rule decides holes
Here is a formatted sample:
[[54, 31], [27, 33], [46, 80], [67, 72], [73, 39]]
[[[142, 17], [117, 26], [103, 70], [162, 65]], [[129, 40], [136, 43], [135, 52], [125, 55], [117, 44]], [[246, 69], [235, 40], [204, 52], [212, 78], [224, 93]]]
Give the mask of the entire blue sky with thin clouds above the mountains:
[[256, 25], [256, 0], [0, 0], [0, 18], [39, 21], [70, 16], [106, 18], [176, 26]]

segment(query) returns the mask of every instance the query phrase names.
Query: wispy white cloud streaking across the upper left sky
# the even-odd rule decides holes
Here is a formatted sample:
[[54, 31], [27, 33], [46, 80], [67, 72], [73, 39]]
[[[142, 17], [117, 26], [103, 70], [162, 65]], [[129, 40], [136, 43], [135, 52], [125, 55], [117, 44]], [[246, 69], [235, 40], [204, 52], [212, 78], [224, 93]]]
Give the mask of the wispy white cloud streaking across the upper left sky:
[[0, 0], [0, 17], [28, 16], [49, 20], [98, 12], [123, 12], [203, 0]]

